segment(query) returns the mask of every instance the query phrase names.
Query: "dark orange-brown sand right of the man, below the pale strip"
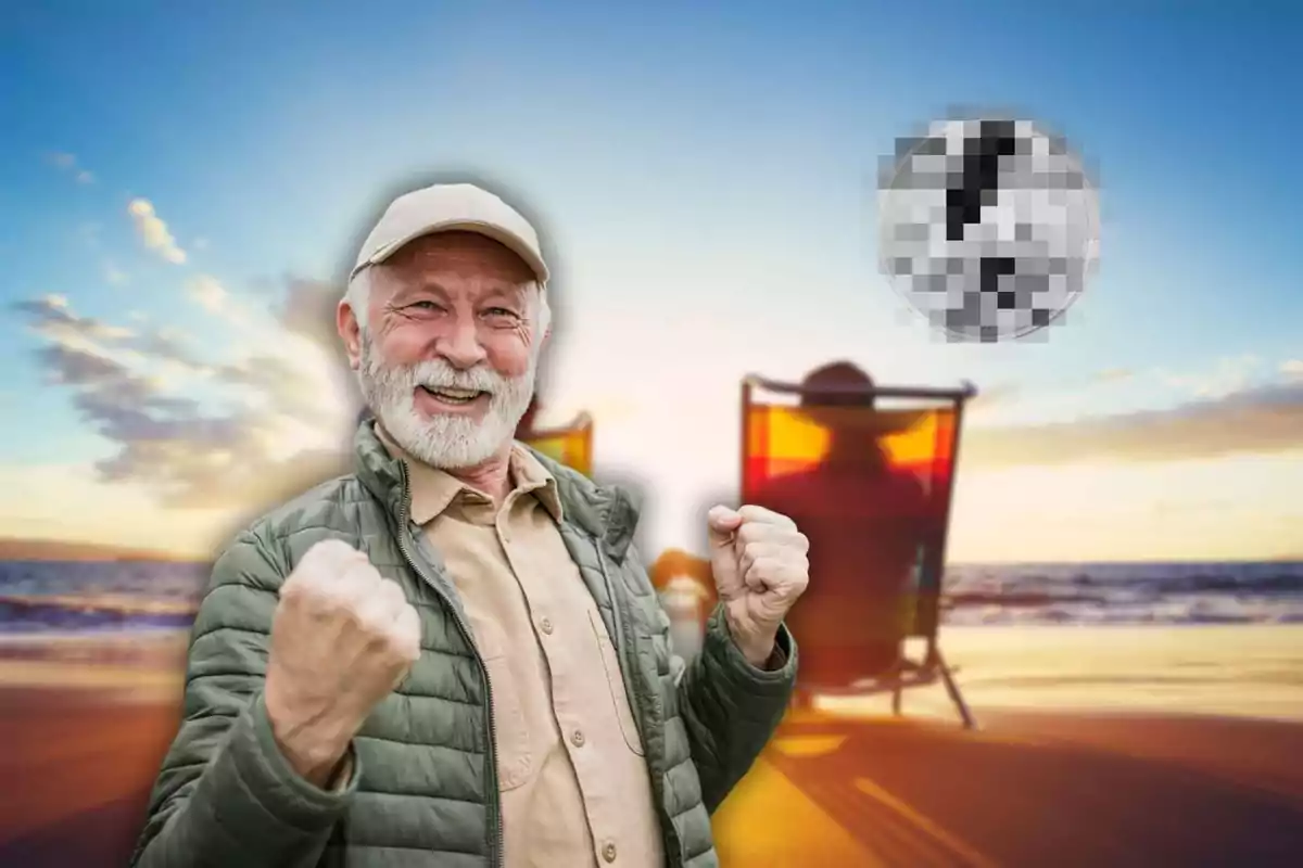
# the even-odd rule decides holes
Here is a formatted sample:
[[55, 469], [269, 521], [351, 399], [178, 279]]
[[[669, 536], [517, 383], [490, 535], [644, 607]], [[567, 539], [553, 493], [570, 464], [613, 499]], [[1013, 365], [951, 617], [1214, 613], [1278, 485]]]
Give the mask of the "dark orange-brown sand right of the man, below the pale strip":
[[715, 816], [723, 864], [1303, 864], [1303, 725], [980, 718], [794, 714]]

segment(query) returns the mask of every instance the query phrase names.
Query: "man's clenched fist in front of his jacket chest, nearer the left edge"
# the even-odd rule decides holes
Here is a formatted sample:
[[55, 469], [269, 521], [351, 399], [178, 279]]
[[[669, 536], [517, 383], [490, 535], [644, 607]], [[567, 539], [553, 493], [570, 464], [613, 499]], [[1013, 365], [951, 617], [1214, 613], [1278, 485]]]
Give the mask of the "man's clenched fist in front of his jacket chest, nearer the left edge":
[[294, 770], [324, 786], [420, 656], [421, 621], [396, 582], [339, 540], [308, 549], [280, 587], [265, 688], [272, 733]]

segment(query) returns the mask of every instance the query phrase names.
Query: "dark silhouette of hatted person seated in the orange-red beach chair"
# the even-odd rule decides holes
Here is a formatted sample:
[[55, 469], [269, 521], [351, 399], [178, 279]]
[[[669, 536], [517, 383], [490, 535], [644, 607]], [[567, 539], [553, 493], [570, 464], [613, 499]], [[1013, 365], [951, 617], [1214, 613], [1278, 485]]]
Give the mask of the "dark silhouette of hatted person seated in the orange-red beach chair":
[[[826, 454], [751, 497], [790, 515], [810, 541], [810, 584], [788, 616], [808, 690], [896, 671], [911, 626], [929, 498], [913, 474], [891, 466], [880, 440], [919, 415], [874, 413], [872, 387], [850, 362], [810, 372], [797, 413], [826, 432]], [[855, 390], [820, 392], [829, 388]]]

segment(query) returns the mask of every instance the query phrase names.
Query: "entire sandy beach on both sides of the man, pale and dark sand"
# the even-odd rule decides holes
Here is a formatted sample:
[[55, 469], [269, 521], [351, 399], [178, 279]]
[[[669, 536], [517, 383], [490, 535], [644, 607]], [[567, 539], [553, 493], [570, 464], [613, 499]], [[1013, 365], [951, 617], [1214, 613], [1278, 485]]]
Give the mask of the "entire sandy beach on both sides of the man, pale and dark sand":
[[[715, 816], [723, 864], [1298, 864], [1303, 629], [1018, 630], [945, 644], [977, 731], [941, 688], [904, 718], [794, 712]], [[0, 864], [124, 864], [180, 714], [176, 640], [0, 648]]]

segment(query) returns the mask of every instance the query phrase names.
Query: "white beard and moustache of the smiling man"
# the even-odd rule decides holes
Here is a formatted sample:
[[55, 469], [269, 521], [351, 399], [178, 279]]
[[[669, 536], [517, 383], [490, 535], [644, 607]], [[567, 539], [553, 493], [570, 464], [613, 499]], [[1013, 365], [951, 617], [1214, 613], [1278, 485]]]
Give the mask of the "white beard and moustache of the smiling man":
[[[357, 383], [366, 406], [404, 452], [439, 470], [460, 470], [482, 465], [515, 439], [534, 394], [537, 364], [537, 355], [530, 354], [529, 368], [517, 377], [483, 366], [459, 371], [443, 359], [388, 366], [364, 331]], [[416, 409], [416, 389], [422, 385], [487, 392], [489, 413], [483, 419], [455, 414], [427, 418]]]

